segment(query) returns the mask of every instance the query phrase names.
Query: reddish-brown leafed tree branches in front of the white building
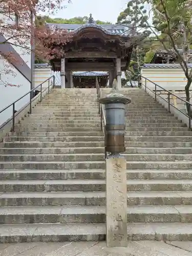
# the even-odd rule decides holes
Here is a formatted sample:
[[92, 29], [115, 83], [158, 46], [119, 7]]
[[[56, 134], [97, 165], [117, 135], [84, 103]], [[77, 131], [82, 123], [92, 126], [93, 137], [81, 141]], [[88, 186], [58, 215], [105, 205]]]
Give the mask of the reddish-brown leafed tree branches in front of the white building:
[[[34, 51], [36, 56], [49, 59], [52, 53], [60, 50], [48, 47], [49, 42], [60, 42], [65, 44], [69, 40], [67, 31], [51, 29], [45, 24], [35, 26], [32, 18], [39, 12], [50, 12], [53, 14], [56, 10], [65, 8], [61, 0], [6, 0], [0, 1], [0, 45], [13, 46], [19, 49], [22, 54], [31, 53], [31, 43], [35, 42]], [[4, 48], [5, 49], [5, 48]], [[13, 51], [1, 51], [0, 59], [5, 62], [1, 70], [2, 74], [12, 73], [11, 64], [18, 62], [16, 54]], [[22, 63], [21, 63], [22, 64]], [[14, 75], [14, 74], [13, 74]], [[11, 84], [5, 84], [10, 85]]]

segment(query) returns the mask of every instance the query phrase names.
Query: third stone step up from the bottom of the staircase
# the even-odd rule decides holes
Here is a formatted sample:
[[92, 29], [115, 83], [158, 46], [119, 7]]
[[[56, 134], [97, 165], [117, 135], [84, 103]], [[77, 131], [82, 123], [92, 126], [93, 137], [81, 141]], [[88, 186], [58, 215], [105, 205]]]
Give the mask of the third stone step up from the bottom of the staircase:
[[[192, 191], [129, 191], [127, 205], [191, 205]], [[0, 206], [106, 205], [105, 192], [14, 192]]]

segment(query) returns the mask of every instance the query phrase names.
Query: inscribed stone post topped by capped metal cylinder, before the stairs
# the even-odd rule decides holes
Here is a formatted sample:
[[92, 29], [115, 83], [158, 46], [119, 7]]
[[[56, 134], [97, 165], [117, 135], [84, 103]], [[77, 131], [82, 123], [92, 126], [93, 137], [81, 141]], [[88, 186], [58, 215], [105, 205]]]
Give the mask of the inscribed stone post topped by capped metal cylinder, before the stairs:
[[106, 244], [108, 247], [127, 247], [127, 192], [125, 151], [125, 104], [130, 103], [116, 90], [100, 99], [105, 105], [106, 158]]

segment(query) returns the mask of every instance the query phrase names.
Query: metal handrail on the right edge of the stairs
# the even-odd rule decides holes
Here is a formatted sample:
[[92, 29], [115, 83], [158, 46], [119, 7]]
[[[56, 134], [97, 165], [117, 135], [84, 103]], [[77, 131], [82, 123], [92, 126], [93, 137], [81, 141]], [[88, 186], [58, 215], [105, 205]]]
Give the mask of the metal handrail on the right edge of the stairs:
[[[140, 75], [140, 77], [144, 78], [145, 79], [145, 84], [143, 84], [141, 81], [140, 81], [140, 84], [142, 86], [144, 86], [145, 88], [145, 92], [146, 92], [146, 89], [150, 90], [151, 92], [153, 92], [155, 94], [155, 100], [157, 101], [157, 87], [162, 89], [163, 91], [167, 92], [168, 93], [168, 97], [167, 97], [167, 100], [163, 97], [161, 97], [159, 94], [158, 94], [158, 97], [160, 97], [161, 99], [163, 99], [164, 101], [166, 101], [168, 103], [168, 112], [170, 113], [170, 106], [173, 106], [176, 110], [178, 110], [180, 113], [182, 113], [183, 115], [185, 115], [187, 118], [188, 118], [188, 125], [189, 125], [189, 130], [191, 130], [191, 106], [192, 104], [189, 102], [189, 101], [186, 101], [184, 99], [182, 99], [181, 97], [177, 96], [176, 94], [164, 89], [163, 87], [159, 86], [157, 83], [151, 81], [150, 79]], [[141, 79], [140, 79], [141, 80]], [[148, 88], [146, 86], [146, 83], [147, 81], [155, 84], [155, 91], [154, 90], [151, 90], [150, 88]], [[188, 112], [187, 114], [184, 113], [183, 111], [179, 110], [174, 104], [170, 103], [170, 95], [173, 95], [174, 97], [178, 98], [179, 100], [181, 100], [182, 102], [184, 102], [186, 105], [188, 105]]]

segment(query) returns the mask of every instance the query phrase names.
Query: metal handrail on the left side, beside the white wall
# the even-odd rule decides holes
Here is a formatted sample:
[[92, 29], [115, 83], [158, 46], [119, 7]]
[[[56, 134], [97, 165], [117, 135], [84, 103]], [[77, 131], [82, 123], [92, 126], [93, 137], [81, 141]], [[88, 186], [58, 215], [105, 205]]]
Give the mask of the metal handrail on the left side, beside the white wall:
[[[53, 78], [53, 81], [50, 82], [50, 80]], [[42, 84], [44, 84], [45, 82], [48, 81], [48, 87], [46, 87], [46, 89], [44, 91], [42, 91]], [[15, 130], [15, 117], [21, 113], [23, 110], [25, 110], [27, 108], [27, 106], [29, 107], [29, 114], [32, 113], [32, 102], [36, 99], [36, 97], [33, 97], [33, 92], [40, 87], [40, 102], [42, 101], [42, 93], [44, 93], [47, 89], [48, 89], [48, 94], [50, 92], [50, 87], [53, 85], [53, 88], [55, 86], [55, 76], [51, 76], [48, 79], [46, 79], [44, 82], [40, 83], [37, 87], [33, 88], [32, 90], [30, 90], [28, 93], [24, 94], [22, 97], [18, 98], [17, 100], [15, 100], [13, 103], [9, 104], [8, 106], [6, 106], [4, 109], [2, 109], [0, 111], [0, 114], [3, 113], [5, 110], [7, 110], [8, 108], [10, 108], [11, 106], [13, 107], [12, 109], [12, 117], [9, 118], [6, 122], [4, 122], [1, 126], [0, 126], [0, 131], [1, 129], [3, 129], [3, 127], [8, 124], [11, 120], [12, 120], [12, 129], [11, 132], [14, 132]], [[27, 96], [28, 94], [30, 94], [30, 101], [27, 105], [25, 105], [22, 109], [20, 109], [19, 111], [17, 111], [15, 113], [15, 103], [18, 102], [19, 100], [23, 99], [25, 96]]]

